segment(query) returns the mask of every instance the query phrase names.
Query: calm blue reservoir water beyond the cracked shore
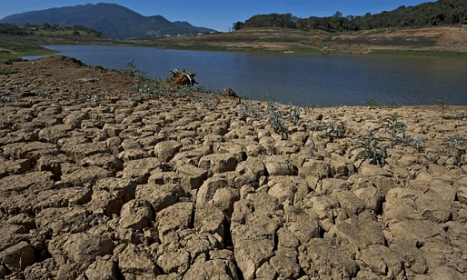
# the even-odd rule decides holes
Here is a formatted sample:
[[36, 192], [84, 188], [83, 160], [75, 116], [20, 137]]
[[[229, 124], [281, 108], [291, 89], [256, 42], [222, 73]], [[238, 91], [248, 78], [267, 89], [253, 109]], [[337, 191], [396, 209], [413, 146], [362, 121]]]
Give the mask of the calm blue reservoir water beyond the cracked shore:
[[47, 45], [87, 65], [122, 69], [133, 62], [150, 77], [197, 72], [205, 88], [231, 87], [251, 99], [293, 105], [467, 105], [467, 62], [355, 55], [258, 55], [151, 47]]

